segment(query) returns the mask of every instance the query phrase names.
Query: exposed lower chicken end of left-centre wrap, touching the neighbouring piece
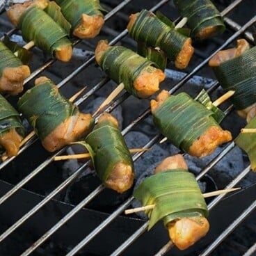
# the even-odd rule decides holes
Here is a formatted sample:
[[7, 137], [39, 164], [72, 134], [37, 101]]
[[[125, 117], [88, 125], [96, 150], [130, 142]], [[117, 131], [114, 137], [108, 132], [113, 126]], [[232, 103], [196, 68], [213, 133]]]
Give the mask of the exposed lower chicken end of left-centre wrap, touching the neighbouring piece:
[[93, 118], [89, 113], [77, 113], [67, 118], [61, 125], [45, 137], [43, 147], [49, 152], [61, 149], [65, 145], [86, 136]]

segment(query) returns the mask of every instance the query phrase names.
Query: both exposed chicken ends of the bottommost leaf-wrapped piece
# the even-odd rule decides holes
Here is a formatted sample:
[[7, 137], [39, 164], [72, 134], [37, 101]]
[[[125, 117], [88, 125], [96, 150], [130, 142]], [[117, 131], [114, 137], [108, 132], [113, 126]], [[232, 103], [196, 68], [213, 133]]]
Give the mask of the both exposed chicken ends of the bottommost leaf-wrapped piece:
[[[186, 161], [181, 154], [164, 159], [155, 169], [154, 173], [165, 170], [182, 168], [188, 170]], [[209, 231], [209, 222], [205, 217], [180, 218], [171, 221], [167, 225], [170, 239], [179, 250], [185, 250], [192, 246], [200, 238], [205, 237]]]

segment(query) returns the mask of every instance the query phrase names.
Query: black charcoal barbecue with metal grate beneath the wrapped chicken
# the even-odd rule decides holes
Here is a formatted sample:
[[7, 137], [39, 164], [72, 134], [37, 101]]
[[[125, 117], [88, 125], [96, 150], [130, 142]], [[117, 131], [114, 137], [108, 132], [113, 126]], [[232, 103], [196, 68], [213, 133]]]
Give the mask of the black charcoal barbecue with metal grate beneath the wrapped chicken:
[[[175, 20], [175, 24], [182, 19], [172, 1], [148, 2], [138, 1], [138, 3], [136, 2], [138, 6], [134, 6], [135, 3], [131, 0], [101, 1], [102, 7], [109, 11], [104, 15], [105, 23], [102, 31], [96, 38], [72, 41], [73, 57], [68, 63], [56, 61], [50, 57], [50, 54], [43, 53], [37, 47], [31, 49], [33, 51], [30, 64], [31, 75], [24, 81], [24, 91], [33, 88], [34, 80], [41, 76], [47, 76], [54, 81], [66, 98], [72, 97], [86, 86], [86, 90], [75, 99], [74, 104], [88, 113], [88, 108], [94, 100], [96, 102], [97, 98], [102, 95], [107, 97], [117, 86], [116, 83], [110, 82], [109, 77], [95, 62], [93, 52], [97, 42], [107, 38], [111, 46], [122, 45], [136, 50], [136, 43], [129, 37], [126, 27], [129, 15], [143, 9], [153, 13], [160, 10], [167, 17]], [[207, 90], [211, 99], [223, 95], [223, 90], [220, 89], [219, 83], [211, 73], [211, 68], [207, 67], [207, 63], [218, 51], [234, 46], [238, 38], [246, 38], [250, 45], [253, 45], [250, 29], [256, 22], [255, 13], [250, 13], [250, 17], [248, 14], [241, 20], [237, 20], [235, 17], [242, 8], [246, 8], [247, 5], [253, 6], [255, 3], [249, 0], [232, 1], [230, 4], [227, 4], [229, 1], [224, 1], [225, 5], [220, 3], [223, 1], [214, 2], [218, 3], [218, 9], [221, 10], [227, 29], [223, 35], [207, 39], [204, 42], [195, 42], [195, 53], [188, 67], [182, 72], [177, 71], [173, 63], [168, 63], [165, 71], [166, 81], [161, 86], [168, 90], [170, 95], [177, 95], [179, 92], [185, 91], [195, 97], [202, 88]], [[168, 13], [169, 9], [173, 10], [173, 17]], [[253, 7], [251, 9], [253, 10]], [[1, 13], [0, 22], [5, 24], [1, 32], [12, 36], [12, 39], [21, 40], [20, 31], [13, 29], [13, 25], [6, 20], [6, 12]], [[22, 44], [26, 43], [22, 42]], [[207, 54], [205, 53], [206, 48], [209, 49]], [[193, 62], [193, 58], [195, 58], [195, 62]], [[214, 79], [205, 79], [205, 77]], [[191, 86], [192, 83], [198, 84], [198, 81], [200, 81], [200, 86]], [[17, 100], [14, 97], [8, 97], [8, 101], [12, 102], [13, 106], [16, 106]], [[159, 154], [162, 152], [161, 150], [169, 155], [170, 150], [171, 154], [173, 154], [173, 150], [177, 150], [168, 142], [159, 144], [163, 136], [157, 129], [152, 129], [149, 102], [149, 99], [137, 99], [122, 90], [121, 95], [105, 109], [111, 113], [116, 111], [115, 113], [120, 115], [118, 109], [120, 106], [122, 107], [122, 113], [127, 117], [124, 118], [122, 127], [122, 135], [125, 136], [125, 139], [138, 131], [140, 131], [140, 136], [145, 136], [144, 142], [142, 137], [139, 137], [141, 138], [139, 140], [136, 140], [136, 137], [131, 138], [127, 143], [129, 148], [134, 147], [132, 143], [136, 142], [143, 143], [137, 147], [153, 147], [152, 152], [155, 147], [158, 149], [154, 153], [142, 151], [133, 155], [136, 180], [143, 175], [145, 166], [151, 164], [150, 161], [144, 161], [145, 166], [136, 168], [141, 159], [145, 159], [150, 154], [155, 158], [154, 154]], [[128, 106], [128, 109], [125, 109], [125, 106]], [[97, 108], [97, 106], [90, 107], [90, 113], [94, 113], [95, 109], [93, 108]], [[236, 138], [240, 129], [246, 126], [246, 121], [238, 117], [230, 101], [227, 101], [221, 109], [225, 113], [221, 126], [225, 129], [234, 126], [232, 136]], [[127, 112], [132, 115], [125, 115]], [[228, 121], [232, 115], [237, 118], [237, 122], [229, 125]], [[119, 118], [122, 119], [122, 116]], [[120, 120], [118, 121], [120, 122]], [[23, 125], [26, 127], [26, 134], [29, 134], [31, 127], [25, 119]], [[169, 151], [166, 150], [167, 147]], [[227, 161], [226, 158], [237, 148], [234, 141], [230, 141], [216, 150], [211, 161], [205, 161], [198, 173], [195, 173], [196, 180], [202, 181], [209, 177], [211, 180], [209, 183], [213, 184], [210, 190], [216, 190], [215, 186], [218, 186], [218, 189], [231, 189], [239, 182], [247, 182], [248, 176], [255, 182], [255, 173], [251, 170], [246, 154], [241, 154], [246, 163], [245, 168], [243, 165], [239, 166], [239, 171], [232, 179], [213, 181], [216, 176], [211, 170], [218, 164]], [[70, 147], [63, 147], [54, 153], [47, 152], [40, 144], [38, 136], [34, 135], [22, 145], [17, 156], [9, 157], [0, 164], [2, 219], [0, 251], [3, 251], [1, 255], [20, 255], [22, 253], [22, 255], [210, 255], [215, 249], [220, 248], [221, 242], [228, 241], [227, 237], [229, 234], [235, 233], [236, 227], [241, 223], [245, 224], [247, 217], [254, 214], [256, 207], [254, 183], [250, 183], [249, 187], [244, 186], [241, 191], [227, 197], [223, 194], [211, 201], [207, 200], [209, 232], [198, 243], [181, 254], [174, 248], [173, 242], [168, 239], [168, 232], [164, 230], [162, 223], [155, 225], [147, 232], [149, 221], [135, 214], [133, 216], [123, 214], [125, 209], [135, 203], [132, 191], [119, 195], [106, 189], [94, 177], [90, 160], [72, 162], [72, 168], [67, 169], [65, 173], [63, 166], [66, 163], [56, 162], [54, 157], [66, 154], [66, 151], [69, 152], [69, 150]], [[72, 150], [77, 149], [72, 147]], [[164, 157], [162, 155], [161, 160]], [[189, 156], [184, 154], [184, 157], [187, 159]], [[156, 162], [155, 160], [154, 162]], [[189, 166], [191, 163], [192, 161], [189, 162]], [[230, 170], [234, 168], [236, 166], [230, 166]], [[77, 191], [85, 191], [85, 193], [79, 193], [77, 199], [71, 200], [72, 195], [76, 193], [72, 189], [77, 184], [82, 186], [79, 188], [81, 190]], [[75, 201], [76, 203], [74, 203]], [[225, 212], [225, 216], [223, 212]], [[211, 222], [216, 225], [211, 225]], [[253, 234], [252, 230], [250, 232]], [[240, 243], [235, 242], [237, 241], [233, 241], [232, 244], [238, 247]], [[14, 243], [16, 248], [10, 246]], [[256, 246], [253, 235], [249, 239], [241, 241], [242, 243], [246, 246], [240, 246], [237, 252], [239, 251], [241, 255], [255, 253]], [[229, 247], [232, 246], [227, 246], [226, 250], [232, 250]], [[234, 250], [232, 252], [234, 253]]]

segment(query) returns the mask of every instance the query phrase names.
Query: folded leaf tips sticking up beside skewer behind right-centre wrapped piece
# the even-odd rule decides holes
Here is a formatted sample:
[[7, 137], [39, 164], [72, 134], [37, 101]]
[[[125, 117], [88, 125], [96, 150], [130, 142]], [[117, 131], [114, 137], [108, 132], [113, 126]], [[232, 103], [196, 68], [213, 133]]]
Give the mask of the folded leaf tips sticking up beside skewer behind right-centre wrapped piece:
[[211, 98], [209, 97], [207, 91], [205, 89], [202, 89], [197, 97], [195, 97], [195, 100], [197, 102], [200, 102], [202, 105], [204, 105], [207, 109], [213, 112], [212, 117], [218, 122], [218, 124], [225, 118], [225, 113], [218, 109], [217, 106], [214, 106], [211, 102]]

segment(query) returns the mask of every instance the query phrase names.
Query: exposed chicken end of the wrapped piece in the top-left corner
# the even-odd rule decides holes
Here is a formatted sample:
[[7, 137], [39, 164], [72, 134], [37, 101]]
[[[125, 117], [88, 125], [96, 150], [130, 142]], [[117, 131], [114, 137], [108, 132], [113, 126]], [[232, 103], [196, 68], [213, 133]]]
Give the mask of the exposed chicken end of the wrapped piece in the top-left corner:
[[24, 3], [15, 3], [13, 6], [6, 11], [7, 16], [10, 19], [10, 22], [13, 23], [14, 26], [17, 26], [19, 23], [19, 17], [24, 13], [24, 10], [29, 8], [30, 6], [38, 6], [40, 9], [47, 8], [49, 0], [33, 0], [33, 1], [25, 1]]

